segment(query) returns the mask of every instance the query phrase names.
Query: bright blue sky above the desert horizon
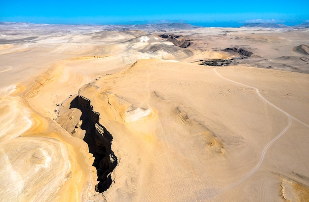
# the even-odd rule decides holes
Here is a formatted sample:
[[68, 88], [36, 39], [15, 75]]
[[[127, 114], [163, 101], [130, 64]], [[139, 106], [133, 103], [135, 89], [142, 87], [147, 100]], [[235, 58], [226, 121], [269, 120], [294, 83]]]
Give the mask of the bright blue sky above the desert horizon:
[[309, 22], [309, 0], [0, 0], [0, 21], [60, 24]]

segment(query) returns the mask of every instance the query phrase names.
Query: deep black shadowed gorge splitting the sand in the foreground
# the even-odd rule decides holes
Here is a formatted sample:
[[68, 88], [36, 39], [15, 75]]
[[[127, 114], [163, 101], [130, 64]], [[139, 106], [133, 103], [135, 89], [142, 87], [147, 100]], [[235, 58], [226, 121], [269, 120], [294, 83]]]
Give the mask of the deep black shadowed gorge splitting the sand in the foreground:
[[85, 130], [83, 140], [88, 144], [89, 152], [93, 154], [93, 166], [97, 169], [98, 181], [95, 189], [102, 193], [112, 184], [111, 172], [117, 165], [117, 158], [111, 149], [113, 137], [104, 126], [99, 123], [99, 114], [93, 111], [90, 101], [77, 96], [70, 105], [81, 111], [81, 129]]

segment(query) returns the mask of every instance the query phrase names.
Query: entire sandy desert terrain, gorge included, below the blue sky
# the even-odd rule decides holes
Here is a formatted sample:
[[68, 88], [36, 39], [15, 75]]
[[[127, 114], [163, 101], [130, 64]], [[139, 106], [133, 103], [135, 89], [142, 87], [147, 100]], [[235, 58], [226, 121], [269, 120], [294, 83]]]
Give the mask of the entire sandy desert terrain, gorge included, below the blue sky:
[[307, 202], [308, 73], [308, 28], [2, 23], [0, 201]]

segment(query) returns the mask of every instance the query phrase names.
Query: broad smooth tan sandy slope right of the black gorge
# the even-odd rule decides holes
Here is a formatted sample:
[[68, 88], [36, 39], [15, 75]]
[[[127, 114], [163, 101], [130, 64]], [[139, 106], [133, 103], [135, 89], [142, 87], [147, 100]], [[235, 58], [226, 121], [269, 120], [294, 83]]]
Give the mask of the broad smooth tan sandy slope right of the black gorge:
[[[270, 72], [245, 67], [217, 72], [238, 75], [248, 69], [259, 77]], [[297, 74], [280, 73], [282, 78], [298, 78]], [[308, 76], [304, 79], [300, 82], [306, 88]], [[260, 87], [260, 91], [268, 90]], [[290, 121], [290, 116], [252, 87], [224, 80], [212, 67], [138, 61], [124, 72], [84, 86], [79, 94], [90, 99], [94, 111], [100, 113], [100, 123], [113, 134], [113, 150], [120, 158], [113, 173], [115, 184], [105, 193], [108, 201], [276, 201], [280, 195], [264, 195], [258, 179], [267, 178], [274, 185], [282, 175], [297, 180], [290, 176], [292, 171], [308, 175], [306, 163], [291, 167], [307, 158], [306, 147], [297, 152], [303, 155], [283, 167], [273, 163], [280, 153], [267, 153], [277, 144], [276, 137], [288, 139], [295, 132], [305, 137], [308, 125], [302, 123], [295, 129], [298, 121]], [[281, 99], [267, 97], [272, 102]], [[308, 95], [296, 98], [303, 108], [307, 99]], [[102, 104], [105, 102], [110, 105]], [[151, 113], [141, 114], [141, 110]], [[294, 113], [298, 118], [306, 116], [304, 111]], [[132, 114], [136, 116], [133, 120]], [[302, 142], [291, 147], [298, 144]], [[252, 184], [260, 190], [241, 192]]]

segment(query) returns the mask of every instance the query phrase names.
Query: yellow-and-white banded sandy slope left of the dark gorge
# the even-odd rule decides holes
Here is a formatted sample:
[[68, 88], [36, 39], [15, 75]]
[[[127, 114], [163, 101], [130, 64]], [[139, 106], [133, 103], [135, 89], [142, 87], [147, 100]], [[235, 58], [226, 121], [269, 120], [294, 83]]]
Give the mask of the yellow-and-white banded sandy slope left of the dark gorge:
[[[16, 109], [10, 111], [12, 119], [6, 117], [7, 108]], [[2, 97], [0, 111], [5, 126], [0, 135], [1, 202], [103, 201], [95, 191], [94, 158], [85, 142], [37, 114], [22, 97]], [[20, 121], [10, 122], [15, 119]]]

